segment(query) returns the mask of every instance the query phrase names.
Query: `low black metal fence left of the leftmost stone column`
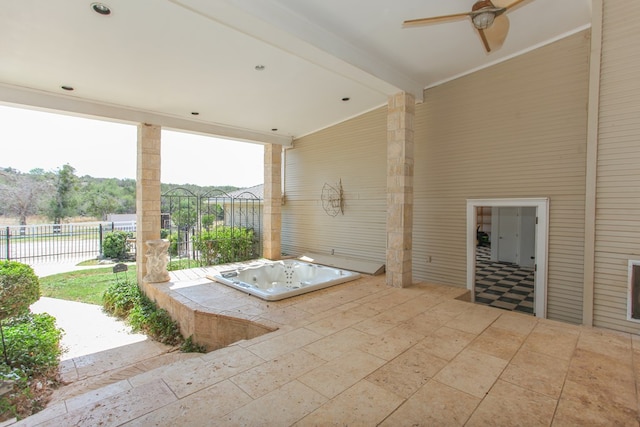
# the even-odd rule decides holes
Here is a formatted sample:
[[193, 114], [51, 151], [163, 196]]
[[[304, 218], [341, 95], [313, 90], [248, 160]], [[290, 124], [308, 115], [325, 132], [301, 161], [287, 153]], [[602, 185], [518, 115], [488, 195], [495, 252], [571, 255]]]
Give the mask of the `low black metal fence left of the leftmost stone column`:
[[0, 227], [0, 260], [26, 264], [64, 259], [97, 258], [104, 237], [125, 231], [135, 237], [135, 221]]

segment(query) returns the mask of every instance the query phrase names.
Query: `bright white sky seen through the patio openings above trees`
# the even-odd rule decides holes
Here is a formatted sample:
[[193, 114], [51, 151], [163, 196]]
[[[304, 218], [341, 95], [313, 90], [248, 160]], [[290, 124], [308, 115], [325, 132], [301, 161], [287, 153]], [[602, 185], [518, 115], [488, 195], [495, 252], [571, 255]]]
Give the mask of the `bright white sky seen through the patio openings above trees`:
[[[0, 167], [136, 178], [137, 128], [0, 105]], [[163, 184], [251, 187], [264, 181], [263, 146], [162, 131]]]

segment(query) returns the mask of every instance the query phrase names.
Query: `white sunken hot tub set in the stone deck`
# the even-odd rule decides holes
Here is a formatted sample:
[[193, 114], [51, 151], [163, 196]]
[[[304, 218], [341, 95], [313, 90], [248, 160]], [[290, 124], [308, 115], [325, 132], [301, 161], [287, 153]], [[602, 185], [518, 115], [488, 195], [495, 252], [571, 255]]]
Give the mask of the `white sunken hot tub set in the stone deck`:
[[298, 260], [284, 260], [259, 266], [222, 271], [212, 276], [217, 282], [267, 301], [277, 301], [355, 280], [359, 273]]

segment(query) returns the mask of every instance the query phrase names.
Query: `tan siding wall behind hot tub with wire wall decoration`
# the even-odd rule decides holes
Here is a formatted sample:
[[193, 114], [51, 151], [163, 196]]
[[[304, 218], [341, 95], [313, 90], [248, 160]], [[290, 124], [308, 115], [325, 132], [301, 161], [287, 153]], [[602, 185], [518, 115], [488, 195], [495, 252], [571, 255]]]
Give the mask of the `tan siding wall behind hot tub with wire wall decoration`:
[[[294, 141], [285, 156], [282, 250], [380, 263], [386, 254], [387, 108]], [[325, 184], [342, 182], [344, 214], [328, 215]]]

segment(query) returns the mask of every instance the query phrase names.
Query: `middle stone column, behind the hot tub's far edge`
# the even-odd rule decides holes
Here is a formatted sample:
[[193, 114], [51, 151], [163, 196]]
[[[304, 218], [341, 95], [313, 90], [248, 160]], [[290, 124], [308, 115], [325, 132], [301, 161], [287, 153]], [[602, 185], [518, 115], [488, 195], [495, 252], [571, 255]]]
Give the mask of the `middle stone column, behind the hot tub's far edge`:
[[277, 260], [282, 255], [282, 146], [264, 146], [264, 229], [262, 256]]

